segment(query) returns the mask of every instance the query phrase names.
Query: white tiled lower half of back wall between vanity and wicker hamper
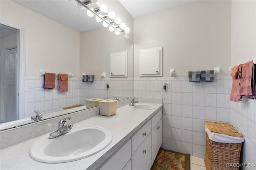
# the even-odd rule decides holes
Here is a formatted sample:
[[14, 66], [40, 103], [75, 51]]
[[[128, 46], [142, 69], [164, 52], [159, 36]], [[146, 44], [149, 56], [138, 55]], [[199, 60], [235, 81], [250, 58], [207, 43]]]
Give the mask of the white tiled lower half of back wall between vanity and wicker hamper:
[[[171, 87], [164, 93], [166, 82]], [[143, 89], [146, 97], [153, 97], [152, 92], [154, 98], [164, 99], [165, 95], [163, 148], [204, 158], [204, 120], [230, 123], [229, 76], [215, 77], [209, 83], [189, 82], [187, 77], [136, 78], [134, 97], [140, 97]]]

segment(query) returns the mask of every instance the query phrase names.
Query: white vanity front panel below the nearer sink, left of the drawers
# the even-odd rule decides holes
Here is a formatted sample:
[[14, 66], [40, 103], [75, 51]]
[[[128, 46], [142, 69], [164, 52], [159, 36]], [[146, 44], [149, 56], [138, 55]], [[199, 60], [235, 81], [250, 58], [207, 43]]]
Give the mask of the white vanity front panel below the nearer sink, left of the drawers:
[[106, 164], [100, 168], [100, 170], [121, 170], [127, 164], [131, 158], [131, 140], [126, 142]]

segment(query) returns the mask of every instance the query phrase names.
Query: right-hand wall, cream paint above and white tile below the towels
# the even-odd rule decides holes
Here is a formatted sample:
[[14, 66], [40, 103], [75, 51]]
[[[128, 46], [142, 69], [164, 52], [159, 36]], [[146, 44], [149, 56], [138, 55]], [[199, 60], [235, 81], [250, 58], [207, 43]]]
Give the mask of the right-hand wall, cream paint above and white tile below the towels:
[[[256, 1], [232, 1], [231, 65], [256, 57]], [[245, 142], [243, 163], [256, 162], [256, 102], [243, 98], [231, 102], [230, 121], [242, 132]], [[244, 169], [255, 169], [244, 168]]]

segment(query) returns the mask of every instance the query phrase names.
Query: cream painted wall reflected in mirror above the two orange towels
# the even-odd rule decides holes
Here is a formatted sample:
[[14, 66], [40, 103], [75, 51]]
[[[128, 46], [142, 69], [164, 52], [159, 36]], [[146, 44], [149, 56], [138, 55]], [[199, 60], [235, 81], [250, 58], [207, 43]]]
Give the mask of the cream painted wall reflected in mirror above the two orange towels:
[[36, 77], [42, 69], [78, 77], [79, 32], [10, 0], [1, 1], [0, 22], [24, 30], [26, 76]]

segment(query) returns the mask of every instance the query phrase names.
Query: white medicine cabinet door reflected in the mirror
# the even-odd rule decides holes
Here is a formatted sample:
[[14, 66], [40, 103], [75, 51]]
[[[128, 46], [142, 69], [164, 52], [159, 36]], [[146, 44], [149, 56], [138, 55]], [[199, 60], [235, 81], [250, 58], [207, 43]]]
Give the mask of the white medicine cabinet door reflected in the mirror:
[[110, 77], [127, 77], [127, 52], [110, 54]]

